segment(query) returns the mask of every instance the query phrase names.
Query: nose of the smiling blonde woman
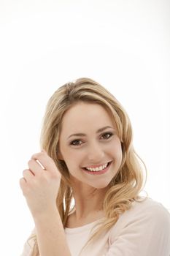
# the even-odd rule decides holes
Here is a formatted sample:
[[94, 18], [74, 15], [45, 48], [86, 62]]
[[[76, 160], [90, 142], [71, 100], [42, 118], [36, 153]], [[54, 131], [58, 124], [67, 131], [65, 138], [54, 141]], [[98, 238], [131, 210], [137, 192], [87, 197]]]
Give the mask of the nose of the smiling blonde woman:
[[88, 161], [93, 164], [102, 162], [104, 159], [104, 149], [98, 143], [90, 143], [88, 147]]

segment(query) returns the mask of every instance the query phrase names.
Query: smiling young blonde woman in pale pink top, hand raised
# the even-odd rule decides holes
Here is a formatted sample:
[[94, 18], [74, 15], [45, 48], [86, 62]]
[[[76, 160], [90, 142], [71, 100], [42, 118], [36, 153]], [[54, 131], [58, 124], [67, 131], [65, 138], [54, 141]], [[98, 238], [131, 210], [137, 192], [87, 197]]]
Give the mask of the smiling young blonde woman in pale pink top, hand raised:
[[139, 195], [144, 163], [125, 110], [80, 78], [47, 104], [20, 187], [34, 219], [23, 256], [169, 256], [170, 214]]

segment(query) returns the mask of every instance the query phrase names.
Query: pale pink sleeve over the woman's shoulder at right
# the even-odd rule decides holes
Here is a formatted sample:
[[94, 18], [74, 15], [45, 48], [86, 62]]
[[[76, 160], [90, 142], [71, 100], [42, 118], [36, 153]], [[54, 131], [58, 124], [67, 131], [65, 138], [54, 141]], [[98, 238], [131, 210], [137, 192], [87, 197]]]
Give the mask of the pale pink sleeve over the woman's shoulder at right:
[[[145, 209], [146, 210], [146, 209]], [[103, 256], [170, 256], [170, 214], [163, 206], [152, 206], [127, 217]]]

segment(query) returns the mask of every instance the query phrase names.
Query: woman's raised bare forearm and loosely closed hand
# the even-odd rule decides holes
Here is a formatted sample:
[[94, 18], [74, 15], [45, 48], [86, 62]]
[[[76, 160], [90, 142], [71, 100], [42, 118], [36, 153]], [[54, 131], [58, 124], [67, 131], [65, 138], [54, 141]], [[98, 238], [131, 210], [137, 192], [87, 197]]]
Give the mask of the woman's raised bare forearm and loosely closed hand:
[[71, 256], [56, 207], [61, 173], [45, 151], [34, 154], [23, 171], [20, 187], [35, 222], [41, 256]]

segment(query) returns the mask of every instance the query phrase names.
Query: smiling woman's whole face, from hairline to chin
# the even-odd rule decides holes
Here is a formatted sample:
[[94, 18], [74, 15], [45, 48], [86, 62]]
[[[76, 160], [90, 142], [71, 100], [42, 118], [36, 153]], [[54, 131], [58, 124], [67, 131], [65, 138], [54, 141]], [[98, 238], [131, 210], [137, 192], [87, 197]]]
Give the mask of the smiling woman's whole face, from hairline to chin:
[[77, 186], [107, 187], [122, 161], [114, 121], [107, 110], [93, 103], [78, 102], [66, 111], [59, 151]]

